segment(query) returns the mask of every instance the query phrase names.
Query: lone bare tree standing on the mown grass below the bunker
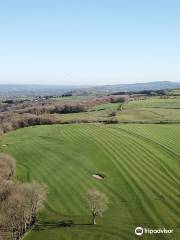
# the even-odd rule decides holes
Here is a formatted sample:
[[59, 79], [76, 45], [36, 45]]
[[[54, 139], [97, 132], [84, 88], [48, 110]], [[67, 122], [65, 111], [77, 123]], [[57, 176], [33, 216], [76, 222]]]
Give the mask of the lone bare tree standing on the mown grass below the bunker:
[[96, 217], [102, 216], [108, 208], [108, 197], [98, 190], [89, 190], [86, 199], [92, 215], [92, 223], [96, 224]]

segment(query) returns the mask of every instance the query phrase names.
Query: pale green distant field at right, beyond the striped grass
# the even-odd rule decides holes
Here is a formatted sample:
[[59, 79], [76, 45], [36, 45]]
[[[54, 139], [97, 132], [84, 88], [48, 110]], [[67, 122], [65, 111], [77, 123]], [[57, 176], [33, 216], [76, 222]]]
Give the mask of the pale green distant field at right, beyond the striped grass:
[[180, 98], [150, 97], [130, 101], [117, 118], [126, 122], [180, 121]]

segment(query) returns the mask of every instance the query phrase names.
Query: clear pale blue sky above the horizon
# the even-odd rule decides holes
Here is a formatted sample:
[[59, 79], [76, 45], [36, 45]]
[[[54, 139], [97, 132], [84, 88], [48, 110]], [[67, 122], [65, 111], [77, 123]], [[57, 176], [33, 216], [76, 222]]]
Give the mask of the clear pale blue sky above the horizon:
[[0, 83], [180, 81], [179, 0], [0, 1]]

